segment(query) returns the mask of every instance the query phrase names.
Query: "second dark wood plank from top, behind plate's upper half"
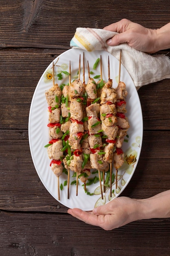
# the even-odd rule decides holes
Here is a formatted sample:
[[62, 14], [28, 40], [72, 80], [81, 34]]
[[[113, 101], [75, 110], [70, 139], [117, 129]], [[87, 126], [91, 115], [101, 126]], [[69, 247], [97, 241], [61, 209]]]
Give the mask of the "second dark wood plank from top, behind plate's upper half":
[[[29, 108], [36, 85], [46, 67], [62, 52], [60, 49], [0, 50], [1, 72], [7, 76], [0, 76], [1, 127], [27, 129]], [[165, 100], [164, 96], [170, 93], [167, 79], [143, 86], [138, 92], [144, 129], [169, 130], [170, 98], [166, 97]]]

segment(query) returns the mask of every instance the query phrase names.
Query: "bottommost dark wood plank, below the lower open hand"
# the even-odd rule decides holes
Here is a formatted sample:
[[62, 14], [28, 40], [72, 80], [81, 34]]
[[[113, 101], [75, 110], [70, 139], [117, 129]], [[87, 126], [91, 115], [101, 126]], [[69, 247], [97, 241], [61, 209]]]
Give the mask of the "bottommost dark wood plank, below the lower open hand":
[[1, 211], [0, 217], [4, 256], [169, 255], [170, 219], [132, 222], [108, 233], [67, 214]]

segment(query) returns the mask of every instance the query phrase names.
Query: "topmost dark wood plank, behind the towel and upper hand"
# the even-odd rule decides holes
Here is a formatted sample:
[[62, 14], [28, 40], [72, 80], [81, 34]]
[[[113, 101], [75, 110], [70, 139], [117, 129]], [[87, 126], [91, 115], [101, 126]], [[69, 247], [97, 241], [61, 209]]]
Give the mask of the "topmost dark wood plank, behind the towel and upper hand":
[[125, 17], [146, 27], [157, 28], [166, 24], [165, 13], [169, 11], [168, 0], [122, 1], [121, 6], [119, 2], [108, 0], [104, 5], [102, 1], [93, 4], [90, 0], [64, 4], [62, 0], [57, 4], [54, 0], [1, 0], [0, 47], [69, 46], [77, 27], [103, 28]]

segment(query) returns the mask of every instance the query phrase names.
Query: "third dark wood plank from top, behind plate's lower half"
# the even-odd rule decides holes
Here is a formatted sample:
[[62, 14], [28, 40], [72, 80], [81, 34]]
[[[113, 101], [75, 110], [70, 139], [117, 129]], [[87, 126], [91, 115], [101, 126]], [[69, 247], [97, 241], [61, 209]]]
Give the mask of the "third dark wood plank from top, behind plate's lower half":
[[[139, 164], [121, 195], [147, 198], [169, 189], [169, 137], [170, 131], [144, 132]], [[66, 212], [35, 171], [27, 131], [1, 130], [0, 144], [0, 209]]]

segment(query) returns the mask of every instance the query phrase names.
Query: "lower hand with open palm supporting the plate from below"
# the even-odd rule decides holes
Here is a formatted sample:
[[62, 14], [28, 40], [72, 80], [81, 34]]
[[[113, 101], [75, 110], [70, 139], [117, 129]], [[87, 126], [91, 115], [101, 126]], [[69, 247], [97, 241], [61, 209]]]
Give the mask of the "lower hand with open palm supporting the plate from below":
[[90, 212], [74, 208], [68, 209], [68, 213], [87, 224], [112, 230], [140, 219], [140, 201], [119, 197]]

